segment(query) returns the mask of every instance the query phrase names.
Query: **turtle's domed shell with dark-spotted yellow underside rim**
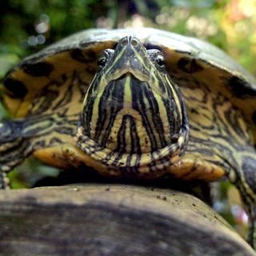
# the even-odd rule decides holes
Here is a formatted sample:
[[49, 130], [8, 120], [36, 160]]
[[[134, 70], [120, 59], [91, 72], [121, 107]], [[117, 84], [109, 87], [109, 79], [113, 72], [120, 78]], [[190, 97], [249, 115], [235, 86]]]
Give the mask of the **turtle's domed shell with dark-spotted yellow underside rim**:
[[148, 49], [162, 50], [178, 86], [186, 86], [188, 75], [202, 81], [210, 90], [229, 98], [255, 126], [256, 80], [250, 73], [207, 42], [152, 28], [84, 30], [25, 58], [4, 80], [6, 106], [15, 117], [23, 117], [34, 94], [61, 74], [77, 70], [85, 72], [90, 80], [98, 54], [113, 48], [127, 34], [134, 35]]

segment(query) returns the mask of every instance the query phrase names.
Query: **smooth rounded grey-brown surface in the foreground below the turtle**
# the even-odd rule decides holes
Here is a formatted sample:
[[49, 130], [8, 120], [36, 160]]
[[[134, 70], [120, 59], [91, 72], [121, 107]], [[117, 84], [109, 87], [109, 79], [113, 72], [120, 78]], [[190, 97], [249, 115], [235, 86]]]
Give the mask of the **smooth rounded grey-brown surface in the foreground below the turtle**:
[[256, 255], [189, 194], [87, 184], [0, 191], [0, 255]]

